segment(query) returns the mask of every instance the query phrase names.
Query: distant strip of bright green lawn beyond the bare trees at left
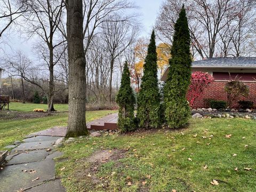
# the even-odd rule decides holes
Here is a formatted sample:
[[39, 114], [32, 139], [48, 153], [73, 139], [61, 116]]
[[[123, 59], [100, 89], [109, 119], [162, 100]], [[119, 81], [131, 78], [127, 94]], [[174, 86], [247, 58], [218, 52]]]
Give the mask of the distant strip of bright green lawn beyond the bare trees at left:
[[[35, 103], [20, 103], [20, 102], [10, 102], [9, 109], [12, 111], [24, 111], [31, 112], [34, 109], [44, 109], [47, 110], [46, 104], [35, 104]], [[54, 104], [54, 109], [57, 111], [68, 111], [68, 104]]]

